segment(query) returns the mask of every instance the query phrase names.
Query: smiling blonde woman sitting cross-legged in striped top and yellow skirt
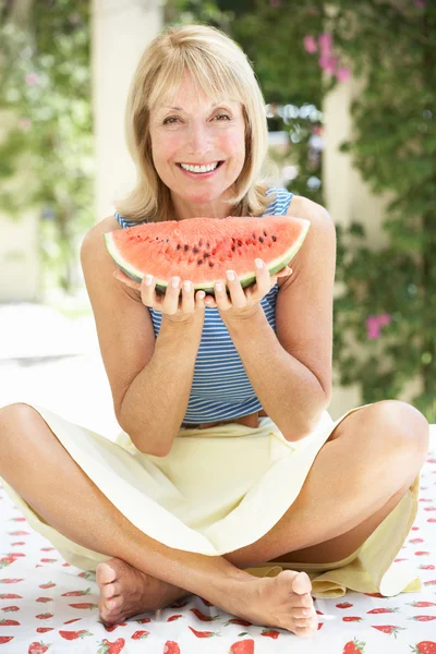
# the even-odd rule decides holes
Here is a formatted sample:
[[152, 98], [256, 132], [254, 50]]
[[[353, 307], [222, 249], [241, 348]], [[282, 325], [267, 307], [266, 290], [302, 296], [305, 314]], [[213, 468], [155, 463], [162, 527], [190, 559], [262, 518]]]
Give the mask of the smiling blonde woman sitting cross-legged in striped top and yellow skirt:
[[[310, 635], [313, 594], [419, 588], [386, 573], [416, 514], [428, 424], [393, 400], [336, 422], [326, 411], [335, 227], [262, 183], [265, 105], [246, 57], [211, 27], [165, 31], [134, 74], [126, 134], [137, 185], [82, 246], [123, 431], [112, 444], [43, 408], [3, 408], [12, 499], [68, 561], [96, 570], [108, 625], [194, 593]], [[230, 298], [175, 278], [161, 299], [104, 244], [145, 220], [269, 214], [311, 221], [292, 274], [261, 267], [245, 291], [228, 277]]]

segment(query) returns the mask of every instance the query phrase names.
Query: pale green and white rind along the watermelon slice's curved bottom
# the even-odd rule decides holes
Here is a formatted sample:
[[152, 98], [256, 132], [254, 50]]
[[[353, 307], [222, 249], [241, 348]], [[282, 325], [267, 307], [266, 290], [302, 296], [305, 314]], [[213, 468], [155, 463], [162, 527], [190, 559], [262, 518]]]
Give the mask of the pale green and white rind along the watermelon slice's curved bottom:
[[[293, 259], [293, 257], [295, 256], [295, 254], [299, 252], [300, 247], [302, 246], [304, 239], [306, 238], [308, 228], [311, 226], [311, 221], [306, 220], [305, 218], [299, 218], [299, 220], [303, 223], [303, 227], [302, 227], [302, 230], [301, 230], [296, 241], [294, 241], [294, 243], [292, 243], [291, 247], [289, 250], [287, 250], [280, 258], [272, 259], [271, 262], [269, 262], [267, 264], [270, 276], [275, 275], [276, 272], [279, 272], [279, 270], [284, 268], [284, 266], [287, 266]], [[117, 266], [128, 277], [130, 277], [130, 279], [133, 279], [133, 281], [141, 283], [144, 275], [141, 272], [141, 270], [133, 268], [133, 266], [131, 266], [120, 254], [120, 252], [117, 247], [117, 244], [113, 241], [112, 232], [108, 232], [108, 233], [104, 234], [104, 237], [105, 237], [106, 247], [107, 247], [110, 256], [117, 264]], [[254, 267], [254, 261], [253, 261], [253, 267]], [[239, 280], [241, 282], [242, 288], [250, 287], [253, 283], [255, 283], [256, 274], [253, 270], [252, 272], [250, 272], [247, 275], [239, 276]], [[155, 282], [156, 282], [156, 286], [155, 286], [156, 292], [165, 294], [168, 283], [164, 279], [156, 279]], [[194, 284], [194, 291], [199, 291], [199, 290], [203, 290], [210, 295], [215, 295], [214, 286], [205, 284], [205, 283]]]

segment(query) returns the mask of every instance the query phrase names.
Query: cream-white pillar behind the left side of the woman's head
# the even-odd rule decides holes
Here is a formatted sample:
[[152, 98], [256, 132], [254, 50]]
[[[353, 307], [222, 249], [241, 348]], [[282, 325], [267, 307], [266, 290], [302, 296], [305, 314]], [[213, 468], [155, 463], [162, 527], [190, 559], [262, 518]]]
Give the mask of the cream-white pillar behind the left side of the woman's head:
[[96, 156], [95, 220], [113, 214], [112, 201], [136, 174], [124, 138], [129, 85], [147, 44], [162, 29], [159, 0], [92, 0], [93, 114]]

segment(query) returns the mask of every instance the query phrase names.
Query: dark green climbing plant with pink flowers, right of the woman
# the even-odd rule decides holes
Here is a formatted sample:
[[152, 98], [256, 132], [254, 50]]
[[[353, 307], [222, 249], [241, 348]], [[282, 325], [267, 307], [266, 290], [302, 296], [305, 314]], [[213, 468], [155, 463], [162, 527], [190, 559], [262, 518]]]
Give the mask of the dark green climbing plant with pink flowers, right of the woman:
[[322, 204], [322, 183], [315, 189], [308, 180], [322, 182], [326, 126], [300, 109], [319, 110], [351, 76], [362, 82], [353, 136], [340, 149], [373, 193], [392, 199], [382, 225], [387, 244], [370, 244], [364, 223], [337, 225], [336, 382], [358, 385], [363, 402], [397, 398], [417, 382], [408, 401], [436, 422], [436, 3], [168, 4], [170, 22], [217, 25], [247, 52], [268, 107], [281, 107], [269, 124], [289, 134], [298, 172], [286, 185]]

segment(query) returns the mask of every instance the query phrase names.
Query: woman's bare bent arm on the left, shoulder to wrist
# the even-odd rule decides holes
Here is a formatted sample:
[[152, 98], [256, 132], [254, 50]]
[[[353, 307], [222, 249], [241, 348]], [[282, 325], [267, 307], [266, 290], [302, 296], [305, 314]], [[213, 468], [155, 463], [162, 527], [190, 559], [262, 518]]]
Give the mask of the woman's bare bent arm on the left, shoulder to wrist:
[[117, 266], [102, 234], [117, 226], [110, 217], [89, 230], [82, 268], [117, 420], [138, 450], [162, 457], [186, 412], [204, 310], [187, 324], [170, 323], [164, 315], [155, 339], [141, 295], [113, 277]]

